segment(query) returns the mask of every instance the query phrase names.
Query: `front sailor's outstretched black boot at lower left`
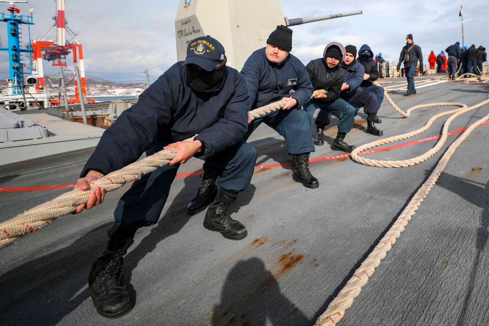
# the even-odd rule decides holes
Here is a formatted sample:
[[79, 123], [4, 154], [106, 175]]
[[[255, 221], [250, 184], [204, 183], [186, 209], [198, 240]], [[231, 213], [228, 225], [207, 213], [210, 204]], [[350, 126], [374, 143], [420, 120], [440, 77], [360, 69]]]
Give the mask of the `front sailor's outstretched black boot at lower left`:
[[136, 230], [116, 224], [109, 230], [107, 248], [92, 263], [89, 290], [93, 306], [107, 318], [117, 318], [133, 309], [135, 293], [127, 288], [122, 276], [123, 257], [133, 244]]

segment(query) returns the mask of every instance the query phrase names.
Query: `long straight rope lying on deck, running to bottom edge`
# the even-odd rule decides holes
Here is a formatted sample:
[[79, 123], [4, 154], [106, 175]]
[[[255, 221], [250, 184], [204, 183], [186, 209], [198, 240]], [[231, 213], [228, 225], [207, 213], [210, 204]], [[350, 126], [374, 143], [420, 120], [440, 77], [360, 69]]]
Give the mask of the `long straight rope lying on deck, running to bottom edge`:
[[[486, 100], [474, 105], [473, 107], [465, 109], [465, 111], [480, 108], [488, 103], [489, 100]], [[339, 291], [336, 298], [334, 298], [328, 305], [326, 311], [319, 316], [315, 324], [316, 326], [331, 326], [343, 319], [345, 310], [353, 304], [354, 299], [358, 296], [358, 294], [360, 294], [362, 286], [368, 282], [368, 279], [375, 272], [375, 268], [378, 267], [380, 261], [384, 259], [386, 253], [392, 248], [392, 245], [396, 242], [396, 239], [400, 237], [400, 233], [404, 231], [404, 228], [408, 224], [411, 217], [416, 214], [421, 202], [435, 185], [438, 177], [442, 174], [448, 160], [453, 155], [455, 150], [475, 128], [479, 127], [488, 120], [489, 114], [470, 125], [470, 127], [468, 127], [467, 130], [462, 133], [462, 135], [460, 135], [452, 145], [450, 145], [428, 179], [418, 189], [406, 208], [394, 222], [394, 225], [387, 231], [385, 236], [380, 239], [377, 246], [361, 263], [360, 267], [356, 269], [350, 280], [348, 280], [346, 285]]]

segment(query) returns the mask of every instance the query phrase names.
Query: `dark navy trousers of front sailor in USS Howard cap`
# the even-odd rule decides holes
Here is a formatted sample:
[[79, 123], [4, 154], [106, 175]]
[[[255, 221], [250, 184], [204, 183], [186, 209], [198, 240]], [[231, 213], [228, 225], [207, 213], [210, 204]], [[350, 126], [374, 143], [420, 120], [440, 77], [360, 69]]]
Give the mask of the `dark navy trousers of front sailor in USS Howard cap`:
[[[168, 144], [169, 142], [155, 143], [146, 155], [153, 155]], [[217, 181], [221, 188], [240, 192], [245, 190], [251, 181], [257, 156], [253, 146], [240, 141], [209, 157], [205, 162], [222, 169], [222, 175]], [[180, 164], [165, 165], [134, 181], [117, 203], [114, 211], [115, 222], [130, 229], [155, 224], [165, 206], [179, 166]]]

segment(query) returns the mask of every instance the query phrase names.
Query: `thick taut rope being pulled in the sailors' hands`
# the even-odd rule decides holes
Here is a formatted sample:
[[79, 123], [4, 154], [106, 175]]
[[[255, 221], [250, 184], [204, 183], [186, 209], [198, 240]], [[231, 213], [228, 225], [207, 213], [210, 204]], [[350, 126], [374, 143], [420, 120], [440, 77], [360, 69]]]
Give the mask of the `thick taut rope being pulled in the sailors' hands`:
[[[320, 92], [326, 93], [327, 91], [324, 89], [316, 90], [312, 93], [311, 98], [315, 98]], [[265, 107], [251, 110], [248, 113], [254, 119], [255, 117], [282, 109], [285, 104], [286, 101], [278, 101]], [[194, 137], [185, 139], [184, 141], [193, 141]], [[36, 232], [58, 217], [74, 212], [78, 205], [86, 203], [89, 200], [89, 193], [95, 187], [104, 188], [106, 192], [117, 190], [124, 184], [137, 180], [142, 175], [153, 172], [156, 168], [168, 164], [168, 162], [175, 158], [176, 154], [175, 148], [157, 152], [90, 182], [88, 190], [72, 190], [0, 223], [0, 249], [16, 242], [27, 233]]]

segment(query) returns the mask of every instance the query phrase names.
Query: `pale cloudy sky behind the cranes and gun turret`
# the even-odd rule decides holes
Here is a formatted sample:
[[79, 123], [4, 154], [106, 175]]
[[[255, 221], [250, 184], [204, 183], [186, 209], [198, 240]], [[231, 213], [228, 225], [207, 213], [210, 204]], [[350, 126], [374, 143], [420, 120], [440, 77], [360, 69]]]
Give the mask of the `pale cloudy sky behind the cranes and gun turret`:
[[[421, 46], [427, 64], [431, 50], [438, 54], [450, 44], [462, 43], [460, 5], [464, 7], [465, 45], [489, 45], [488, 0], [410, 0], [408, 5], [394, 0], [279, 2], [289, 19], [363, 11], [362, 15], [292, 26], [293, 54], [304, 64], [321, 57], [325, 44], [331, 41], [357, 48], [367, 43], [374, 53], [381, 52], [384, 59], [397, 64], [407, 34], [413, 34], [414, 42]], [[86, 75], [115, 82], [144, 82], [144, 74], [124, 73], [148, 69], [150, 76], [162, 74], [177, 61], [174, 21], [178, 5], [178, 0], [66, 0], [68, 26], [83, 44]], [[7, 7], [0, 3], [0, 12], [6, 12]], [[35, 10], [32, 39], [41, 38], [54, 24], [55, 0], [29, 0], [17, 7], [24, 15], [29, 7]], [[27, 28], [22, 27], [25, 40]], [[3, 22], [0, 37], [6, 47]], [[46, 38], [55, 38], [54, 29]], [[71, 56], [68, 68], [72, 68], [70, 60]], [[7, 53], [0, 52], [0, 79], [8, 78], [7, 61]], [[44, 62], [44, 71], [57, 72], [48, 62]]]

